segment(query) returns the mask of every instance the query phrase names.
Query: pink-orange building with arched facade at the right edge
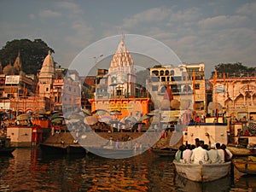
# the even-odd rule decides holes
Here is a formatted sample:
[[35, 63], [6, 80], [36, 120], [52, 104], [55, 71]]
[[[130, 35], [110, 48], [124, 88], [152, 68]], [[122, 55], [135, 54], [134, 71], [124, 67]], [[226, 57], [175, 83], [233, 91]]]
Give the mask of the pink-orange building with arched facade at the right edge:
[[[256, 119], [256, 73], [216, 72], [209, 83], [212, 102], [219, 103], [219, 113], [226, 112], [237, 119], [252, 115]], [[208, 108], [208, 113], [215, 113], [214, 106]]]

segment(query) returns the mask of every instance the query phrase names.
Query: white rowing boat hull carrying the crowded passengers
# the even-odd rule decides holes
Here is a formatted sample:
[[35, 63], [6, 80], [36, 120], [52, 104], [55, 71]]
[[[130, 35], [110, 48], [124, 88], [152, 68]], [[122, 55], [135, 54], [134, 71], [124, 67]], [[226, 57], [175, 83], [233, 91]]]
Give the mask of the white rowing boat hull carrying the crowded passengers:
[[230, 173], [231, 161], [218, 164], [184, 164], [173, 160], [178, 175], [195, 182], [209, 182]]

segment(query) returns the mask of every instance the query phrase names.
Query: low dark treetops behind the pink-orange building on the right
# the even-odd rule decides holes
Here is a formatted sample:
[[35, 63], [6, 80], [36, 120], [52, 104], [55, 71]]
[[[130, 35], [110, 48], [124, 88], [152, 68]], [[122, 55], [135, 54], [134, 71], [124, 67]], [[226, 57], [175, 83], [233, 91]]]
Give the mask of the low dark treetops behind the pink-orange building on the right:
[[[241, 64], [241, 62], [236, 63], [219, 63], [215, 66], [217, 73], [255, 73], [256, 67], [247, 67]], [[212, 77], [215, 72], [212, 72]]]

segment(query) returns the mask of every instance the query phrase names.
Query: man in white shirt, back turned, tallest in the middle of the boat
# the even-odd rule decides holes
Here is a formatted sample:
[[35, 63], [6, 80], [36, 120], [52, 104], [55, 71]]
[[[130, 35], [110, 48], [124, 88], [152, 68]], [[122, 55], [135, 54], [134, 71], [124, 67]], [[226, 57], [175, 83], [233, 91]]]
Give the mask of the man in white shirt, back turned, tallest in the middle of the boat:
[[203, 146], [204, 146], [204, 142], [200, 141], [200, 146], [193, 150], [193, 153], [191, 155], [192, 163], [199, 164], [200, 162], [202, 162], [203, 164], [205, 164], [207, 163], [207, 160], [209, 160], [207, 150], [202, 148]]

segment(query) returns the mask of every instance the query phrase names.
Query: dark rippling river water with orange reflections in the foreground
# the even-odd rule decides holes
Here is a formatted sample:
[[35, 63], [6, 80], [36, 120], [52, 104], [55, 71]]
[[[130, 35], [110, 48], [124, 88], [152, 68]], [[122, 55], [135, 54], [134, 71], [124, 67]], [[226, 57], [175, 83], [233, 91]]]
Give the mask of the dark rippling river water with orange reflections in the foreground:
[[235, 170], [235, 178], [201, 184], [177, 177], [170, 157], [150, 151], [112, 160], [17, 148], [0, 157], [0, 191], [256, 191], [256, 177]]

